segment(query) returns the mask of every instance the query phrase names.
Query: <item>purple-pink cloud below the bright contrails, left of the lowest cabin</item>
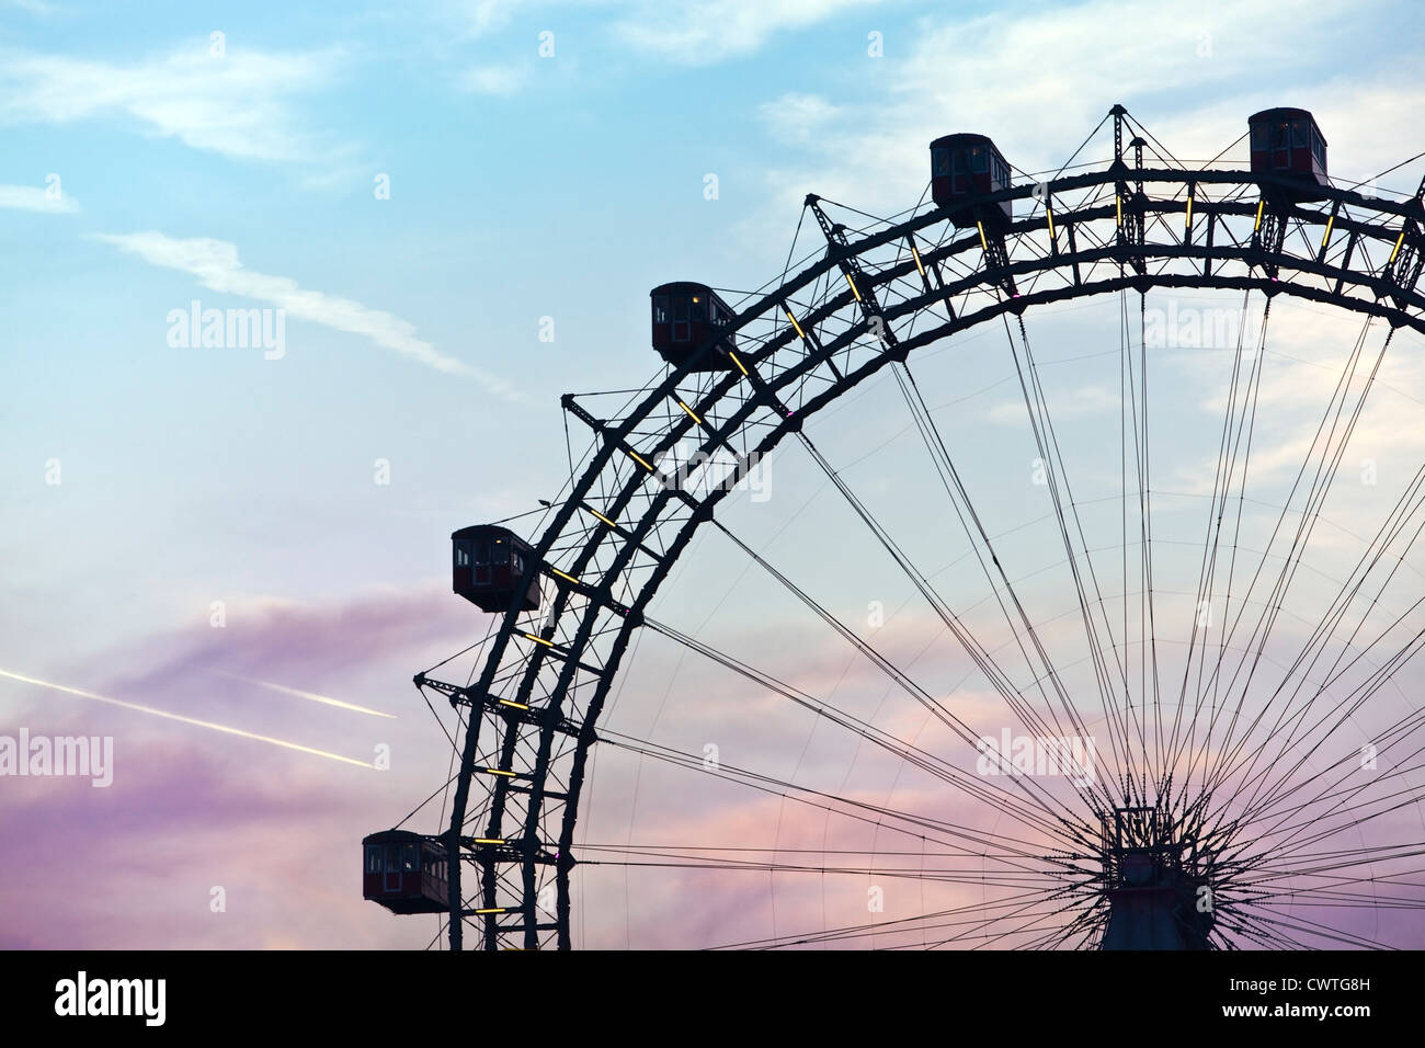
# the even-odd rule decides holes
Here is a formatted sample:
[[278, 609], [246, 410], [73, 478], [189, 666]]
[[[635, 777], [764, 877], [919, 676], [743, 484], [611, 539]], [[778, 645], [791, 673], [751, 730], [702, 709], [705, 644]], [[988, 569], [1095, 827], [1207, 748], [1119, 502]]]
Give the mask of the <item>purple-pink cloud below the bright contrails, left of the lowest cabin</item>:
[[[110, 788], [30, 779], [6, 790], [7, 838], [48, 861], [0, 891], [0, 945], [419, 948], [433, 928], [382, 920], [355, 887], [361, 837], [392, 818], [386, 781], [120, 736]], [[60, 858], [81, 841], [104, 877]], [[214, 887], [234, 910], [245, 900], [244, 920], [209, 908]]]

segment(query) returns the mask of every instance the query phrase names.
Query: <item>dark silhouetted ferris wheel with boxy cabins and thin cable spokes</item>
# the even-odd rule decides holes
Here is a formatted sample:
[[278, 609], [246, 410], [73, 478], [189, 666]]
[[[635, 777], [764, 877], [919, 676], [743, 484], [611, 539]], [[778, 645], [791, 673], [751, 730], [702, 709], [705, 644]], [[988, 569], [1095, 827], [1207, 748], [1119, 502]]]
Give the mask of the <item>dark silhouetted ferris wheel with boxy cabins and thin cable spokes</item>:
[[[365, 838], [365, 897], [456, 950], [580, 945], [628, 870], [650, 913], [782, 901], [687, 945], [1425, 941], [1425, 181], [1331, 180], [1300, 108], [1244, 138], [1245, 168], [1241, 138], [1178, 161], [1116, 106], [1029, 174], [946, 135], [901, 215], [807, 197], [764, 288], [654, 288], [663, 368], [563, 398], [540, 520], [452, 535], [489, 632], [415, 676], [449, 774]], [[1050, 321], [1090, 352], [1045, 352]], [[650, 664], [654, 714], [620, 719]], [[606, 753], [667, 776], [678, 840], [590, 838]]]

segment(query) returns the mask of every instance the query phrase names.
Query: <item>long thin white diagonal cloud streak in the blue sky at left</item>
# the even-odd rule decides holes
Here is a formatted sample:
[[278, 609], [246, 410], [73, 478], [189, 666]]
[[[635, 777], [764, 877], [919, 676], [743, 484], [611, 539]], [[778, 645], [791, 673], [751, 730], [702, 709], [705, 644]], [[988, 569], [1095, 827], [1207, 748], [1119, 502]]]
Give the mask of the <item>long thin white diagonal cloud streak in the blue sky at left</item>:
[[248, 269], [238, 260], [237, 245], [228, 241], [208, 237], [178, 240], [157, 231], [95, 235], [145, 262], [191, 274], [202, 287], [212, 291], [271, 302], [296, 319], [362, 335], [383, 349], [393, 349], [447, 375], [475, 378], [490, 392], [513, 398], [506, 382], [484, 375], [453, 356], [446, 356], [418, 338], [416, 328], [409, 321], [349, 298], [304, 289], [291, 277], [274, 277]]

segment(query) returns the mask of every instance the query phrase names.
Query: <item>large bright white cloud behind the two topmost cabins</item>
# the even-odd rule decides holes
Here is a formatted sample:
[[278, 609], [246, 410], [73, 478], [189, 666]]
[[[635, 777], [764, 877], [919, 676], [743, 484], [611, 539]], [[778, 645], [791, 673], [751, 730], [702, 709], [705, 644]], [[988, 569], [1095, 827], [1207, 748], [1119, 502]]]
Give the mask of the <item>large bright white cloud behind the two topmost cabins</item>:
[[[1238, 43], [1282, 17], [1292, 23], [1290, 53]], [[1106, 33], [1129, 23], [1139, 31]], [[1354, 29], [1341, 11], [1321, 7], [1206, 0], [1183, 20], [1097, 0], [926, 17], [916, 30], [888, 36], [881, 66], [865, 58], [868, 71], [848, 81], [845, 97], [829, 93], [801, 111], [802, 96], [761, 107], [770, 135], [798, 148], [768, 164], [772, 200], [744, 222], [750, 244], [765, 240], [768, 222], [795, 217], [811, 191], [876, 214], [913, 204], [929, 181], [928, 143], [952, 131], [989, 134], [1019, 168], [1053, 171], [1123, 103], [1176, 155], [1206, 160], [1247, 130], [1250, 113], [1290, 101], [1314, 108], [1331, 140], [1332, 171], [1354, 181], [1414, 151], [1399, 128], [1425, 101], [1418, 86], [1374, 68], [1369, 77], [1337, 77]], [[1207, 56], [1200, 54], [1204, 36]], [[811, 134], [794, 123], [808, 117]], [[1106, 161], [1110, 150], [1112, 123], [1079, 161]], [[1245, 161], [1245, 153], [1228, 158]], [[1412, 168], [1382, 185], [1411, 188], [1416, 178]]]

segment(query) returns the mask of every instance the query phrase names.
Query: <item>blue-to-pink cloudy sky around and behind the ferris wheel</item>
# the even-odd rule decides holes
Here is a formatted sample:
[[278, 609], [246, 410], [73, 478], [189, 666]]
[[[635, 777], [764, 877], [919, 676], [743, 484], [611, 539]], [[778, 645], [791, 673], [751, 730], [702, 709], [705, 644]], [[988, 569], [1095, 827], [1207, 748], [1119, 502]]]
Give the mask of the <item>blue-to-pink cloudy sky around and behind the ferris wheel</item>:
[[[1052, 170], [1114, 103], [1181, 158], [1230, 148], [1253, 111], [1301, 106], [1332, 175], [1362, 181], [1425, 148], [1422, 58], [1408, 3], [0, 0], [0, 734], [113, 739], [111, 786], [0, 779], [0, 945], [425, 945], [433, 918], [362, 901], [358, 844], [447, 774], [409, 680], [489, 626], [449, 592], [447, 536], [554, 498], [570, 472], [561, 394], [660, 374], [651, 287], [758, 288], [787, 264], [807, 192], [911, 208], [926, 144], [950, 131]], [[1107, 155], [1102, 135], [1089, 154]], [[1414, 160], [1379, 185], [1411, 194], [1422, 173]], [[795, 242], [814, 247], [805, 231]], [[259, 311], [268, 341], [205, 345], [192, 335], [208, 309], [225, 324]], [[1119, 482], [1104, 443], [1117, 361], [1086, 361], [1116, 346], [1114, 315], [1063, 308], [1036, 332], [1077, 476], [1100, 496]], [[1274, 324], [1268, 499], [1358, 327], [1315, 307]], [[1381, 502], [1328, 506], [1327, 577], [1425, 452], [1421, 339], [1399, 339], [1349, 466], [1357, 452], [1379, 463]], [[1030, 579], [1056, 560], [1023, 405], [1002, 342], [960, 342], [926, 351], [926, 386], [1005, 529], [1039, 522], [1017, 550]], [[1163, 359], [1180, 439], [1159, 469], [1184, 493], [1176, 508], [1164, 496], [1163, 533], [1177, 519], [1186, 538], [1226, 371], [1220, 356]], [[949, 525], [909, 498], [925, 466], [893, 386], [818, 425], [918, 556], [948, 566], [945, 585], [973, 593], [965, 605], [985, 597], [956, 575], [963, 538], [948, 550]], [[848, 552], [865, 539], [824, 478], [791, 458], [770, 469], [771, 498], [741, 495], [730, 519], [848, 617], [882, 602], [901, 616], [886, 643], [926, 652], [936, 687], [986, 730], [1002, 723], [955, 683], [963, 653], [905, 580]], [[826, 570], [861, 563], [874, 583]], [[1395, 606], [1421, 577], [1396, 580]], [[1045, 622], [1072, 610], [1049, 583], [1039, 596]], [[935, 739], [714, 538], [661, 599], [667, 622]], [[1305, 620], [1318, 605], [1304, 600]], [[785, 727], [772, 743], [767, 697], [688, 659], [648, 642], [610, 714], [621, 730], [693, 750], [712, 737], [772, 774], [963, 814], [963, 798], [795, 714], [767, 713]], [[594, 843], [829, 833], [824, 816], [680, 786], [685, 773], [627, 756], [596, 769]], [[898, 847], [875, 833], [854, 846]], [[583, 945], [715, 944], [865, 913], [864, 878], [583, 877]], [[704, 891], [715, 904], [690, 908]], [[888, 917], [926, 907], [919, 891]]]

